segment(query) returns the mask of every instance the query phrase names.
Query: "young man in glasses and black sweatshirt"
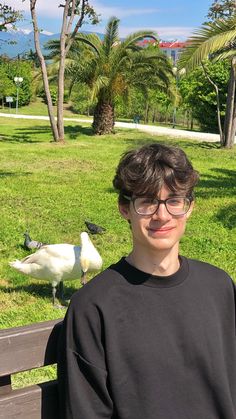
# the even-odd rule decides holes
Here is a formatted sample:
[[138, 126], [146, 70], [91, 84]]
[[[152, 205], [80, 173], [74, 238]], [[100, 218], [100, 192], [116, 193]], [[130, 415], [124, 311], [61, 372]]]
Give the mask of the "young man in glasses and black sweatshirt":
[[133, 248], [74, 294], [59, 345], [63, 419], [235, 419], [234, 287], [179, 255], [198, 174], [185, 153], [126, 153], [113, 181]]

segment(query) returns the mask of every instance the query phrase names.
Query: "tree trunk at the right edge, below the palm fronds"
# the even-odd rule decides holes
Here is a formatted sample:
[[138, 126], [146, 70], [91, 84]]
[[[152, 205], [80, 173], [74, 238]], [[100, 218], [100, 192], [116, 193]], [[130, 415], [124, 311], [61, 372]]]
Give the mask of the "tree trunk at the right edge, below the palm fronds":
[[224, 144], [225, 148], [232, 148], [236, 134], [236, 57], [231, 61], [230, 79], [226, 103], [224, 121]]

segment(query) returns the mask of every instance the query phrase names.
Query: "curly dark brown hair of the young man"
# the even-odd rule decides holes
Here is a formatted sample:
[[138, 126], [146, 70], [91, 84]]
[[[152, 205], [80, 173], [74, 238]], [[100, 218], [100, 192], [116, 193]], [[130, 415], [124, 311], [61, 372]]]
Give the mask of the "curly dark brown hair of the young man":
[[113, 186], [121, 204], [129, 202], [125, 195], [156, 198], [163, 185], [193, 199], [198, 178], [198, 172], [183, 150], [154, 143], [122, 155]]

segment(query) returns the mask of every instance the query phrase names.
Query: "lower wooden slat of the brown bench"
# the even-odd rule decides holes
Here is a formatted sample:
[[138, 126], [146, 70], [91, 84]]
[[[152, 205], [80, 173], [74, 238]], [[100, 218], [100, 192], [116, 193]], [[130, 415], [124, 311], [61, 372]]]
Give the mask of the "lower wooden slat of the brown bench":
[[58, 419], [57, 382], [14, 390], [0, 397], [0, 419]]

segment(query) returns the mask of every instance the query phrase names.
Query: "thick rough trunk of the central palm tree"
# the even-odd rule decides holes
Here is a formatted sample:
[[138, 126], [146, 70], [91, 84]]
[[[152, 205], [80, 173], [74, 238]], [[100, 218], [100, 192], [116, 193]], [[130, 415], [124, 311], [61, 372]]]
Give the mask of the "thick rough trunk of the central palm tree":
[[114, 130], [114, 125], [114, 106], [100, 99], [94, 110], [92, 127], [95, 134], [110, 134]]

